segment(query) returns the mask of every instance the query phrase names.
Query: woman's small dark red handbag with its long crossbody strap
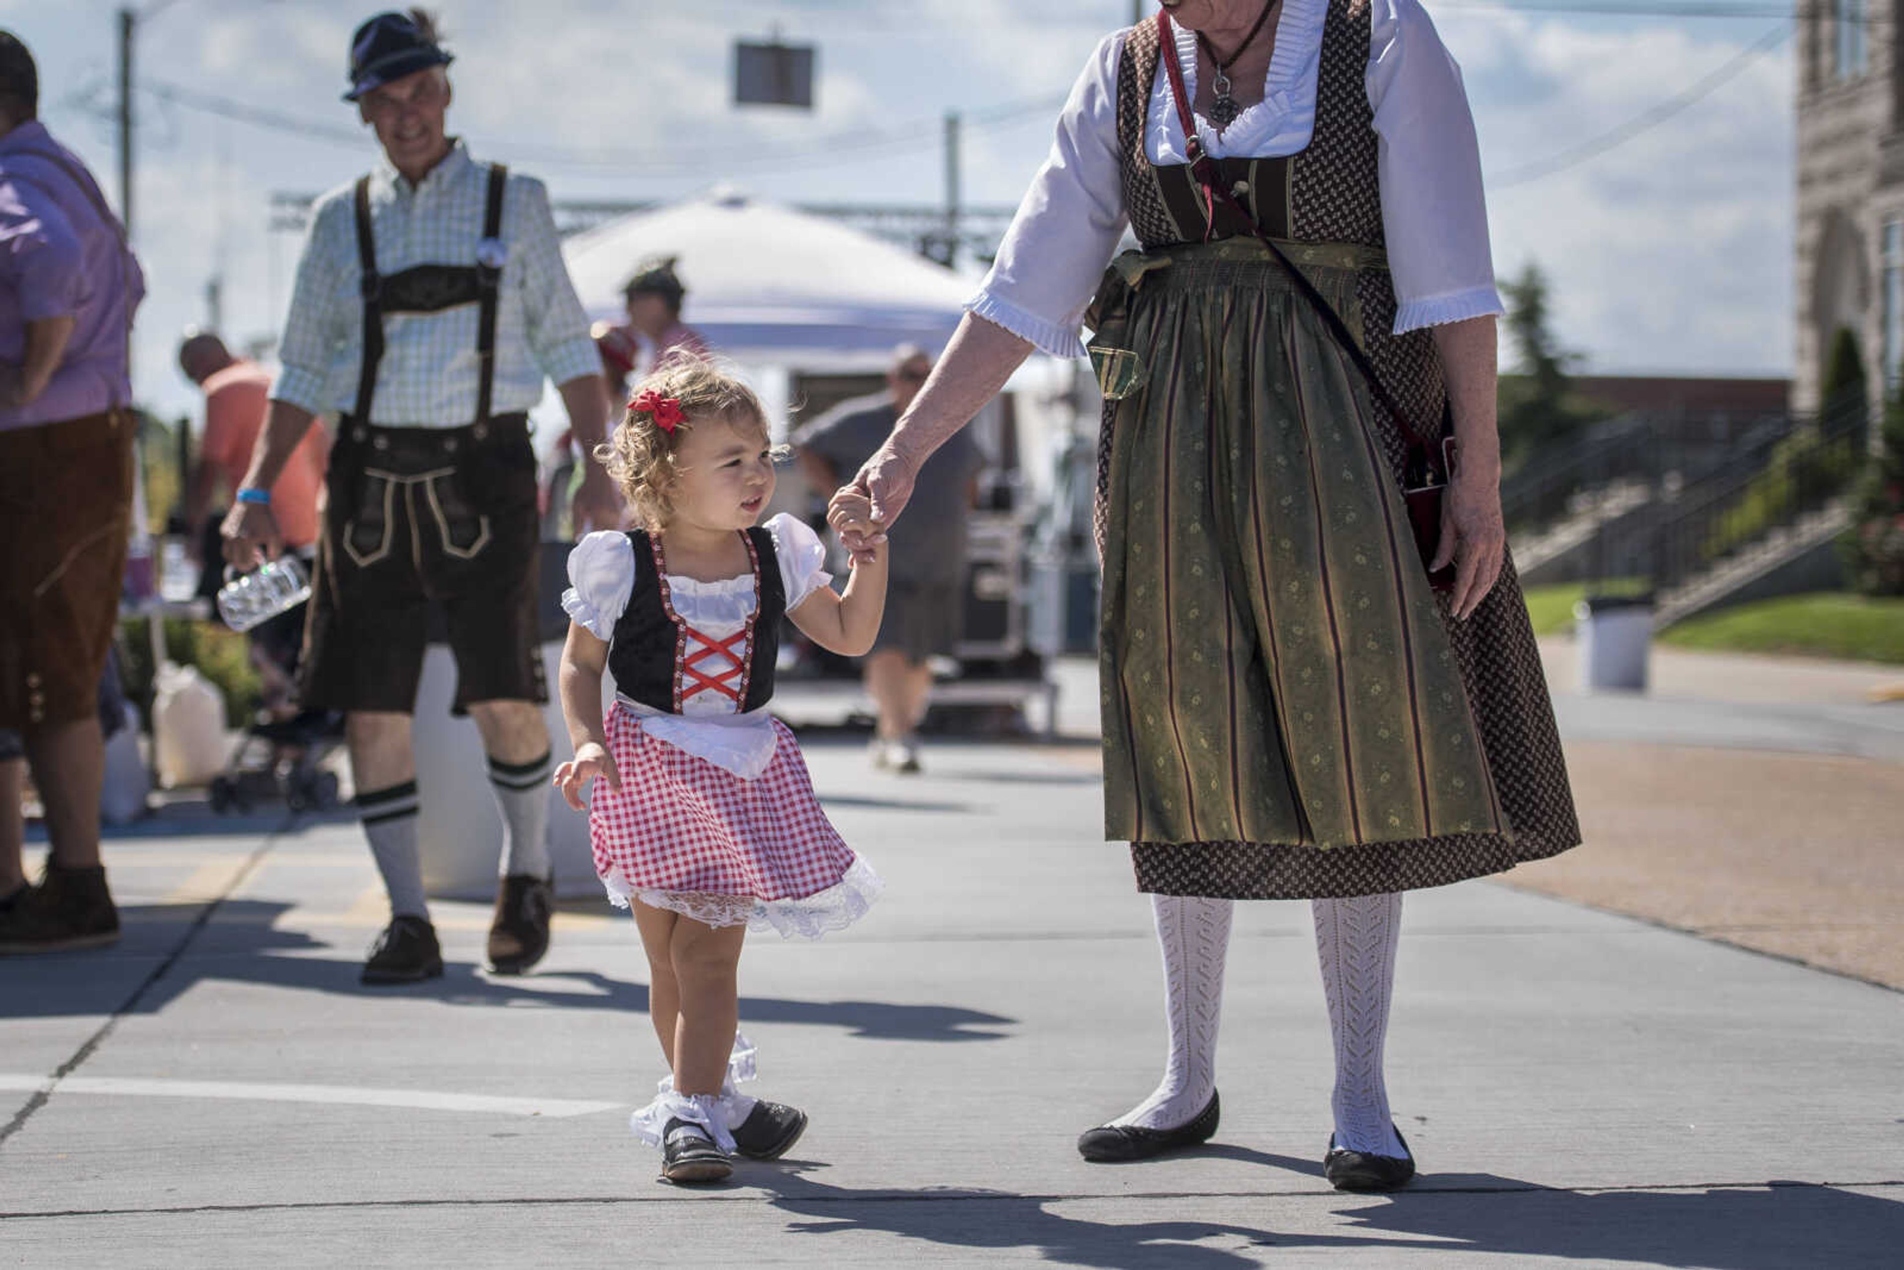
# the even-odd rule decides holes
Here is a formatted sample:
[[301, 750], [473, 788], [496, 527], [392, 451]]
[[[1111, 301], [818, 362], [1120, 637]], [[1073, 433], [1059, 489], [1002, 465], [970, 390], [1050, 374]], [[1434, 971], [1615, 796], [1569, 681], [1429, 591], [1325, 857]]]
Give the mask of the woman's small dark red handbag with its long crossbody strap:
[[[1276, 240], [1262, 232], [1257, 225], [1257, 217], [1249, 213], [1247, 208], [1230, 192], [1222, 183], [1222, 175], [1217, 171], [1217, 160], [1213, 160], [1205, 150], [1203, 143], [1196, 135], [1196, 116], [1190, 112], [1190, 95], [1184, 91], [1182, 67], [1177, 65], [1173, 50], [1177, 48], [1175, 36], [1171, 34], [1171, 17], [1163, 10], [1158, 10], [1158, 34], [1163, 50], [1163, 67], [1171, 82], [1171, 97], [1177, 103], [1177, 120], [1184, 129], [1184, 150], [1190, 156], [1190, 175], [1196, 177], [1198, 185], [1203, 187], [1203, 209], [1205, 223], [1215, 225], [1217, 204], [1224, 204], [1243, 217], [1249, 225], [1251, 234], [1270, 249], [1276, 261], [1289, 270], [1291, 280], [1297, 284], [1297, 291], [1316, 307], [1323, 322], [1329, 326], [1331, 333], [1348, 352], [1348, 358], [1361, 369], [1363, 377], [1369, 381], [1369, 390], [1375, 400], [1380, 402], [1382, 409], [1394, 419], [1396, 428], [1401, 432], [1407, 444], [1407, 463], [1401, 468], [1401, 501], [1407, 505], [1409, 529], [1415, 533], [1415, 548], [1420, 552], [1422, 567], [1434, 564], [1434, 556], [1441, 546], [1441, 508], [1447, 497], [1447, 478], [1455, 470], [1455, 413], [1449, 402], [1441, 402], [1441, 436], [1439, 444], [1430, 442], [1422, 432], [1409, 421], [1407, 411], [1396, 402], [1394, 394], [1382, 385], [1380, 375], [1375, 373], [1375, 364], [1369, 362], [1369, 354], [1361, 350], [1361, 343], [1356, 339], [1348, 324], [1342, 322], [1342, 314], [1335, 310], [1316, 284], [1297, 268], [1295, 261], [1276, 246]], [[1449, 564], [1441, 569], [1428, 573], [1428, 585], [1436, 590], [1455, 588], [1455, 566]]]

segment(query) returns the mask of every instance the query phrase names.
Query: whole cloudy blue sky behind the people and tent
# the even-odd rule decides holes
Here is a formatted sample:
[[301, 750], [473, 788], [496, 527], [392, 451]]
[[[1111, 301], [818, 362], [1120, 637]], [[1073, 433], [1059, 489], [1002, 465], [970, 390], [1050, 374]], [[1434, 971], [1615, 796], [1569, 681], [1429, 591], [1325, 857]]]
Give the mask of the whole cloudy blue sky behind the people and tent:
[[[1794, 40], [1696, 105], [1552, 175], [1531, 169], [1658, 107], [1778, 27], [1771, 15], [1552, 11], [1565, 0], [1426, 0], [1462, 63], [1481, 133], [1495, 263], [1538, 261], [1563, 341], [1594, 371], [1788, 373], [1792, 362]], [[147, 0], [150, 8], [152, 0]], [[1622, 8], [1624, 0], [1575, 0]], [[1672, 10], [1773, 10], [1672, 0]], [[1645, 8], [1645, 6], [1641, 6]], [[1049, 145], [1055, 103], [1129, 0], [449, 0], [453, 128], [478, 156], [545, 177], [558, 198], [666, 198], [714, 181], [784, 200], [942, 200], [948, 109], [969, 128], [965, 198], [1013, 204]], [[1546, 10], [1546, 11], [1542, 11]], [[213, 93], [322, 135], [217, 118], [141, 93], [137, 246], [152, 280], [139, 320], [143, 400], [192, 409], [171, 367], [204, 286], [227, 327], [272, 331], [295, 238], [268, 232], [272, 190], [322, 190], [373, 158], [343, 88], [350, 6], [162, 0], [141, 21], [154, 89]], [[116, 6], [0, 0], [34, 50], [42, 118], [116, 192]], [[1790, 27], [1790, 23], [1786, 23]], [[735, 36], [821, 46], [817, 109], [727, 105]], [[1051, 103], [1047, 109], [1045, 103]], [[851, 147], [828, 145], [853, 133]]]

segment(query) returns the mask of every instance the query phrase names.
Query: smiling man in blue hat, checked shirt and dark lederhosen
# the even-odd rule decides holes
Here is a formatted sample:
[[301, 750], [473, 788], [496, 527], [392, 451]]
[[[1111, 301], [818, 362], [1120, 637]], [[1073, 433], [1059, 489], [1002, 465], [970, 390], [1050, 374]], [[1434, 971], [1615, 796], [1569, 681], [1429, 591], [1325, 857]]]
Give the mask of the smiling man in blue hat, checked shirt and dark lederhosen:
[[[305, 704], [348, 714], [356, 805], [390, 893], [364, 982], [442, 975], [417, 859], [411, 712], [425, 619], [440, 604], [455, 708], [476, 718], [505, 823], [489, 963], [548, 946], [548, 699], [537, 649], [537, 489], [526, 411], [556, 381], [583, 453], [607, 421], [588, 320], [541, 181], [478, 164], [444, 131], [449, 53], [419, 10], [350, 40], [350, 91], [387, 164], [318, 202], [286, 320], [270, 421], [225, 522], [251, 567], [280, 543], [270, 487], [339, 411], [305, 630]], [[600, 465], [583, 522], [615, 524]]]

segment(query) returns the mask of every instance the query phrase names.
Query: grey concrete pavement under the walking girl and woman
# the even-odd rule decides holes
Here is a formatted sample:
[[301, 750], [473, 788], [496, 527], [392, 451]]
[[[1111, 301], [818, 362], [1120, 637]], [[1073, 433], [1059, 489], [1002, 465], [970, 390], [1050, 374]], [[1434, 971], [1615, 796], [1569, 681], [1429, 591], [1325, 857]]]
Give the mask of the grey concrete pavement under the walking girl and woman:
[[[1146, 903], [1087, 756], [935, 746], [815, 781], [889, 893], [752, 943], [760, 1091], [796, 1160], [691, 1194], [626, 1110], [659, 1057], [626, 918], [565, 912], [539, 973], [356, 984], [383, 903], [350, 824], [110, 845], [109, 952], [0, 962], [0, 1262], [1894, 1266], [1904, 996], [1478, 882], [1411, 895], [1392, 1093], [1409, 1192], [1319, 1177], [1329, 1040], [1304, 904], [1247, 904], [1209, 1150], [1087, 1165], [1161, 1019]], [[10, 1123], [4, 1120], [10, 1118]]]

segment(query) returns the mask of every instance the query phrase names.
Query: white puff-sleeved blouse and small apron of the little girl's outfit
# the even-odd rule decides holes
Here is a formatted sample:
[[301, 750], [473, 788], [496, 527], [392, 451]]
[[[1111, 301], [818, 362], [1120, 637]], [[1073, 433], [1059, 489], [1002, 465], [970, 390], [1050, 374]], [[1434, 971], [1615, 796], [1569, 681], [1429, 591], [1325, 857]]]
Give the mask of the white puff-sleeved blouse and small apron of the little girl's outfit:
[[[773, 554], [781, 566], [781, 586], [786, 590], [786, 609], [792, 611], [821, 586], [832, 583], [826, 546], [819, 535], [794, 516], [775, 516], [765, 524], [773, 535]], [[626, 533], [604, 529], [590, 533], [569, 552], [569, 588], [562, 592], [562, 609], [598, 640], [611, 640], [615, 623], [628, 607], [634, 590], [634, 545]], [[754, 575], [701, 583], [678, 573], [668, 575], [668, 594], [674, 613], [693, 630], [710, 640], [724, 640], [743, 626], [754, 611]], [[689, 636], [687, 651], [701, 644]], [[720, 655], [703, 661], [708, 674], [731, 666]], [[687, 676], [682, 685], [689, 687]], [[682, 714], [666, 714], [628, 697], [617, 697], [625, 710], [642, 716], [642, 727], [661, 741], [697, 758], [725, 767], [737, 777], [754, 779], [773, 758], [775, 733], [767, 708], [741, 712], [739, 703], [701, 691], [684, 697]]]

